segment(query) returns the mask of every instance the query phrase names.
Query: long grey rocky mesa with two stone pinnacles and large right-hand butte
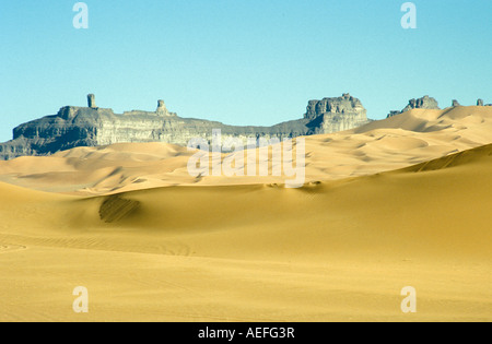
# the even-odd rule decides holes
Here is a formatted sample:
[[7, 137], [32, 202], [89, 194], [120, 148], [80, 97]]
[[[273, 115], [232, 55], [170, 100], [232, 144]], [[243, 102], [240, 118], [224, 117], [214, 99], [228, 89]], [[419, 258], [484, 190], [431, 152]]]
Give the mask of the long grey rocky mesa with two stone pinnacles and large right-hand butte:
[[180, 118], [169, 112], [163, 100], [152, 111], [132, 110], [122, 115], [98, 108], [94, 95], [89, 107], [66, 106], [13, 130], [13, 140], [0, 143], [0, 159], [24, 155], [49, 155], [78, 146], [99, 146], [124, 142], [166, 142], [187, 145], [192, 138], [212, 140], [212, 129], [222, 138], [295, 138], [352, 129], [368, 122], [362, 103], [344, 94], [338, 98], [311, 100], [304, 118], [272, 127], [233, 127], [221, 122]]

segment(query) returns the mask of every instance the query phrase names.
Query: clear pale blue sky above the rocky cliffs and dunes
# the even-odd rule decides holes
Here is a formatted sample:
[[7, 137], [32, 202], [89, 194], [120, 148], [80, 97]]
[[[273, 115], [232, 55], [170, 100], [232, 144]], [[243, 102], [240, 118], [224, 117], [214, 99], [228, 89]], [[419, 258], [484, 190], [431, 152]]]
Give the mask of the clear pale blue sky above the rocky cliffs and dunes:
[[0, 0], [0, 141], [61, 106], [273, 124], [309, 99], [359, 97], [374, 119], [431, 95], [492, 103], [492, 1]]

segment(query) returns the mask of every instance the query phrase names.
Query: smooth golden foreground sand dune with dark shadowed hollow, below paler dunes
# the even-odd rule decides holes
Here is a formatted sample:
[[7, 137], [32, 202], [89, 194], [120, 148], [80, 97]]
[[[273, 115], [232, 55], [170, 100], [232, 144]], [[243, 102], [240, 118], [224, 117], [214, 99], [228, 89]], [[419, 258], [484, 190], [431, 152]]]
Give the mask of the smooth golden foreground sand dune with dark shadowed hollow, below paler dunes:
[[491, 151], [301, 189], [0, 183], [0, 320], [490, 321]]

